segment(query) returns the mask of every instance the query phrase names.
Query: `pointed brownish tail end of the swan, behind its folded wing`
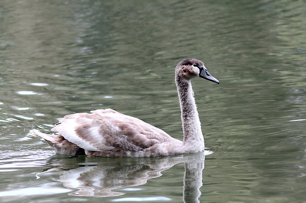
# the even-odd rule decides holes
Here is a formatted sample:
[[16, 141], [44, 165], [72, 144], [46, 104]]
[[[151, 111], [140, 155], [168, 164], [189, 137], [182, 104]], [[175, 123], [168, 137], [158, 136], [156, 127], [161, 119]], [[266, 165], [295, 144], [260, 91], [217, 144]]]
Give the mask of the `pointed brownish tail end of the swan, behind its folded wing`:
[[43, 138], [57, 153], [67, 154], [71, 156], [85, 155], [85, 150], [68, 140], [61, 135], [46, 134], [38, 130], [33, 130], [32, 135]]

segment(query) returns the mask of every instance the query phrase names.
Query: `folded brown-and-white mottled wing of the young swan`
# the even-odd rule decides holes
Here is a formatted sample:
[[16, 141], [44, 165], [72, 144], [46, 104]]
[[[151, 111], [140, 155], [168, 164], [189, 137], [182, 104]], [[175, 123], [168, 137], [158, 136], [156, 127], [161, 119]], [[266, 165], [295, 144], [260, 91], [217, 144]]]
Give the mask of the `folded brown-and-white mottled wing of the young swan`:
[[88, 151], [109, 151], [115, 148], [139, 151], [175, 140], [153, 125], [112, 109], [67, 115], [52, 130]]

